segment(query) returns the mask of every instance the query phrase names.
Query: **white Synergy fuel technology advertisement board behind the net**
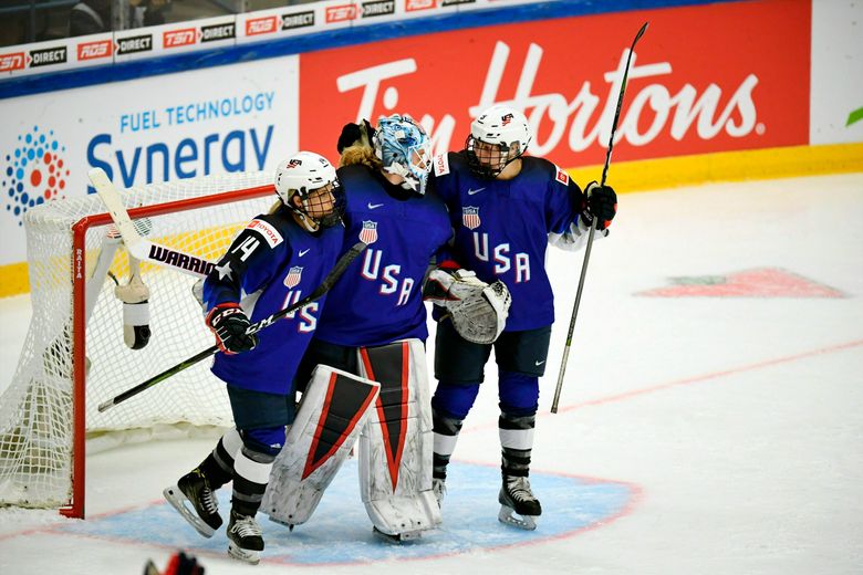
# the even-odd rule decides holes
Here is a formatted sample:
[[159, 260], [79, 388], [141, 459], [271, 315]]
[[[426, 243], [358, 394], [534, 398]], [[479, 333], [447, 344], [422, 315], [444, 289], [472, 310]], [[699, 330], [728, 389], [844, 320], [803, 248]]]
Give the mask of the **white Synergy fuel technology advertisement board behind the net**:
[[127, 188], [274, 170], [297, 150], [297, 56], [166, 77], [0, 101], [0, 265], [25, 260], [24, 212], [87, 194], [91, 168]]

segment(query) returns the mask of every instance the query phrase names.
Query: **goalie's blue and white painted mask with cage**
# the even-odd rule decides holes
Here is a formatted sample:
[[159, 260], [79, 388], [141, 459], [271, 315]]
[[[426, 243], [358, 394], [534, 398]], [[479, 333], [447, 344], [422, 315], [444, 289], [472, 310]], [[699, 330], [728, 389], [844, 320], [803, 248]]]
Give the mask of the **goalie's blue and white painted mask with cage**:
[[432, 171], [432, 142], [423, 127], [407, 114], [381, 116], [374, 136], [375, 155], [384, 171], [404, 178], [402, 187], [426, 192]]

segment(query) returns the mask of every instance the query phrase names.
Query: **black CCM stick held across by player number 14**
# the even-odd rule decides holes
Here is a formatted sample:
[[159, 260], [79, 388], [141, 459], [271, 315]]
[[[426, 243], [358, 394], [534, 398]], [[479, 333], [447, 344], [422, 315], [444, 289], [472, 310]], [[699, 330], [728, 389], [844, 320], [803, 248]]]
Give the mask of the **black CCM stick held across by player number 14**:
[[[313, 301], [321, 297], [323, 294], [330, 291], [330, 289], [335, 284], [335, 282], [339, 281], [339, 279], [342, 276], [344, 271], [347, 269], [347, 266], [353, 262], [360, 253], [365, 250], [366, 244], [363, 242], [356, 242], [347, 252], [342, 255], [337, 262], [335, 262], [335, 265], [333, 265], [333, 269], [330, 270], [330, 273], [326, 274], [326, 278], [323, 279], [321, 284], [312, 291], [309, 295], [300, 300], [299, 302], [289, 305], [284, 310], [281, 310], [280, 312], [275, 312], [272, 315], [269, 315], [264, 317], [263, 320], [260, 320], [259, 322], [256, 322], [251, 324], [247, 330], [246, 333], [248, 335], [256, 334], [263, 330], [264, 327], [268, 327], [275, 323], [277, 321], [281, 320], [289, 313], [295, 312], [300, 307], [308, 305], [312, 303]], [[174, 367], [166, 369], [162, 372], [160, 374], [150, 377], [146, 381], [136, 385], [135, 387], [127, 389], [126, 391], [123, 391], [116, 397], [113, 397], [112, 399], [108, 399], [106, 401], [103, 401], [98, 405], [98, 411], [103, 412], [112, 407], [114, 407], [117, 404], [121, 404], [125, 401], [126, 399], [134, 397], [138, 395], [139, 393], [144, 391], [145, 389], [149, 389], [150, 387], [155, 386], [158, 383], [164, 381], [165, 379], [169, 378], [173, 375], [176, 375], [184, 369], [191, 367], [193, 365], [197, 364], [198, 362], [206, 359], [207, 357], [214, 355], [216, 352], [219, 351], [218, 345], [214, 345], [208, 347], [207, 349], [197, 353], [189, 357], [188, 359], [184, 359], [179, 364], [175, 365]]]

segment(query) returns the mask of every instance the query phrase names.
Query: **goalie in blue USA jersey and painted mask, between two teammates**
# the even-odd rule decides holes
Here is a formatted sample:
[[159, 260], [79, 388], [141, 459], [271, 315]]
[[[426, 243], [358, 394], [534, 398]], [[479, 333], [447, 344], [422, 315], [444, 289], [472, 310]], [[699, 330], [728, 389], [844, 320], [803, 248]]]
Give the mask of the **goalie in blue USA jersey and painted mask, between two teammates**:
[[[375, 533], [410, 539], [440, 522], [432, 492], [423, 286], [429, 264], [445, 258], [453, 231], [444, 202], [426, 187], [428, 136], [409, 116], [382, 117], [376, 129], [368, 123], [349, 125], [339, 150], [339, 179], [347, 198], [344, 247], [360, 239], [368, 248], [330, 293], [298, 372], [298, 387], [319, 364], [379, 383], [377, 402], [360, 437], [361, 493]], [[487, 288], [464, 271], [437, 271], [433, 276], [437, 295], [447, 303], [461, 289]], [[488, 293], [478, 303], [493, 296]], [[283, 458], [289, 459], [282, 453], [277, 461], [273, 485], [280, 482]], [[291, 490], [290, 481], [285, 475], [282, 491]], [[329, 479], [318, 481], [325, 487]], [[268, 494], [264, 511], [277, 521], [293, 525], [311, 513], [297, 509], [289, 496], [274, 499]]]

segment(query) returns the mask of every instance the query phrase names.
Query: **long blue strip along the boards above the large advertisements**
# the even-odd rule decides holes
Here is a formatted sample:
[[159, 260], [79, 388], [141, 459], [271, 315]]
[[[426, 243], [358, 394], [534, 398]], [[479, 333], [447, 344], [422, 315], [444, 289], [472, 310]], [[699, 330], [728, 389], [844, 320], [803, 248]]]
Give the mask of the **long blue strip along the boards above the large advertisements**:
[[0, 80], [0, 100], [450, 30], [609, 12], [728, 3], [729, 1], [744, 0], [617, 0], [611, 6], [593, 0], [552, 0], [532, 4], [477, 9], [102, 66], [12, 76], [8, 80]]

